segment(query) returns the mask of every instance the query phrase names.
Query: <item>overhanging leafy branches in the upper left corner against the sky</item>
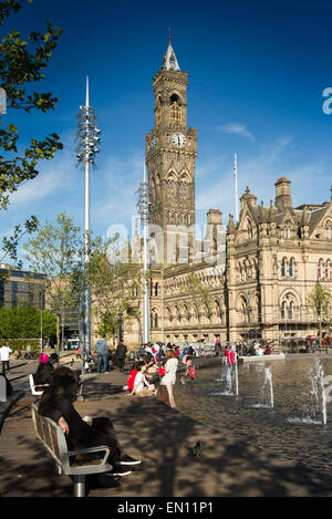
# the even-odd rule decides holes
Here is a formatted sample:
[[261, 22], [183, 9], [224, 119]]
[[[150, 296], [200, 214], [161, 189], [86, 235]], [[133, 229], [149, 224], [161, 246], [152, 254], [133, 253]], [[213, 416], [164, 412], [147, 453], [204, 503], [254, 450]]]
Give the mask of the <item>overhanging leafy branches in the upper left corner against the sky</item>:
[[[28, 0], [32, 3], [32, 0]], [[8, 17], [19, 12], [25, 0], [0, 0], [0, 25]], [[33, 84], [44, 79], [44, 70], [58, 45], [62, 30], [48, 23], [45, 32], [31, 32], [25, 39], [18, 30], [3, 35], [0, 45], [0, 210], [7, 209], [9, 196], [39, 174], [38, 163], [51, 159], [62, 149], [55, 133], [38, 139], [32, 137], [28, 147], [19, 148], [19, 131], [12, 123], [13, 112], [21, 110], [31, 114], [34, 110], [46, 113], [54, 110], [56, 97], [50, 92], [35, 92]], [[6, 127], [4, 121], [9, 120]], [[2, 258], [17, 261], [18, 242], [25, 232], [33, 232], [38, 220], [30, 217], [17, 225], [14, 233], [2, 241]], [[21, 267], [21, 263], [19, 263]], [[3, 278], [3, 273], [2, 273]]]

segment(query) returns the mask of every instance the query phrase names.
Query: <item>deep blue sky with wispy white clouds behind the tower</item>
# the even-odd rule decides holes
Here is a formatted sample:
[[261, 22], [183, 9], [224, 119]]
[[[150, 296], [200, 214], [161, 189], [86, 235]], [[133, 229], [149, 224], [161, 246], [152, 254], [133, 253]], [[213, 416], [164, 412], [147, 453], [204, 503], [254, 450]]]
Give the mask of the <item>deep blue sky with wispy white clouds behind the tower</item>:
[[65, 211], [84, 226], [84, 174], [75, 167], [79, 106], [90, 76], [91, 104], [103, 132], [91, 173], [91, 228], [131, 227], [143, 176], [144, 139], [154, 125], [152, 77], [160, 69], [168, 27], [180, 69], [188, 71], [188, 126], [197, 128], [196, 208], [205, 222], [218, 208], [235, 212], [232, 156], [239, 196], [250, 187], [266, 205], [274, 181], [288, 176], [293, 205], [330, 199], [332, 114], [323, 113], [332, 86], [332, 6], [299, 1], [156, 2], [34, 0], [6, 23], [23, 35], [46, 21], [64, 30], [38, 91], [60, 98], [54, 112], [8, 111], [21, 144], [58, 133], [64, 144], [39, 177], [11, 197], [0, 235], [30, 215]]

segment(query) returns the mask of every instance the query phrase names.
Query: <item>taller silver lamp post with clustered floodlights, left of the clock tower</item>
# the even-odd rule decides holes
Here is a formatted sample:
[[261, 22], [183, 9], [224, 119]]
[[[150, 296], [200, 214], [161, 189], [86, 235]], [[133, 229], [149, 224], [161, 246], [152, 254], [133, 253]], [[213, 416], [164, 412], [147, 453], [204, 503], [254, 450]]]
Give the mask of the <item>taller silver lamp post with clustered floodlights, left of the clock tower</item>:
[[[90, 260], [90, 165], [95, 166], [96, 154], [100, 153], [98, 143], [101, 131], [96, 126], [96, 115], [89, 101], [89, 77], [86, 77], [85, 106], [80, 106], [77, 149], [76, 158], [79, 165], [85, 169], [85, 216], [84, 216], [84, 266]], [[84, 291], [84, 352], [91, 353], [91, 292], [90, 283]], [[84, 363], [83, 363], [84, 364]]]

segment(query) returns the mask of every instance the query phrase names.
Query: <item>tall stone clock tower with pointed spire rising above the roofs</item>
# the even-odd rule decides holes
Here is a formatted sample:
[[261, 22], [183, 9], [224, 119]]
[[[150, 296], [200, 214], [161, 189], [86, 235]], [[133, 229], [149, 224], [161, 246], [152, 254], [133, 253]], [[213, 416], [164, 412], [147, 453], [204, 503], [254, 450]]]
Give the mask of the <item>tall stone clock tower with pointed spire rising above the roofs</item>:
[[197, 133], [187, 128], [187, 85], [188, 73], [180, 71], [169, 38], [163, 66], [153, 77], [155, 126], [145, 138], [151, 225], [163, 229], [166, 248], [170, 235], [174, 239], [174, 233], [189, 231], [190, 242], [194, 233]]

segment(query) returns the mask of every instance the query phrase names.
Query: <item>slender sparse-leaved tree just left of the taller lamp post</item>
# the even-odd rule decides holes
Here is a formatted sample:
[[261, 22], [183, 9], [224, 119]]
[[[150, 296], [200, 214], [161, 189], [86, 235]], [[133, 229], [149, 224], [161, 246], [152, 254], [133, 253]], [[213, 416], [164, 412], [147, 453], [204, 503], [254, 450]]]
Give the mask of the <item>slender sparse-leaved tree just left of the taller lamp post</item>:
[[56, 315], [56, 344], [60, 345], [60, 319], [64, 309], [76, 310], [80, 300], [77, 272], [84, 264], [83, 236], [71, 217], [60, 214], [46, 220], [24, 243], [29, 269], [44, 274], [46, 305]]

